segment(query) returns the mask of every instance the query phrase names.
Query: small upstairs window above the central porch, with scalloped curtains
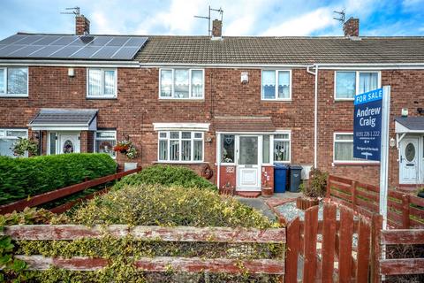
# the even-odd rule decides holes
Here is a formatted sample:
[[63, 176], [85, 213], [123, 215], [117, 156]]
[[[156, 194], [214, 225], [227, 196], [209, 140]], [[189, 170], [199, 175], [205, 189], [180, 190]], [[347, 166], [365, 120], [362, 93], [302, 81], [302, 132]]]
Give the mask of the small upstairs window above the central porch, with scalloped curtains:
[[262, 100], [291, 100], [292, 71], [263, 70], [261, 96]]

